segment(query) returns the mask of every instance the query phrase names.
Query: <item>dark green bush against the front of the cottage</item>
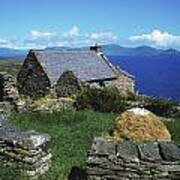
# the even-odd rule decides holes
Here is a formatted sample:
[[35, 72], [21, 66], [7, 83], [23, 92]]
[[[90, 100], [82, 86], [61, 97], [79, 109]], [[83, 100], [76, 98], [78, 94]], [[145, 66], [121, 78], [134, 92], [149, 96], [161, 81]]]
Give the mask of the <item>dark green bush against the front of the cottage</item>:
[[125, 110], [125, 98], [117, 88], [85, 88], [76, 97], [77, 109], [92, 108], [100, 112], [122, 112]]

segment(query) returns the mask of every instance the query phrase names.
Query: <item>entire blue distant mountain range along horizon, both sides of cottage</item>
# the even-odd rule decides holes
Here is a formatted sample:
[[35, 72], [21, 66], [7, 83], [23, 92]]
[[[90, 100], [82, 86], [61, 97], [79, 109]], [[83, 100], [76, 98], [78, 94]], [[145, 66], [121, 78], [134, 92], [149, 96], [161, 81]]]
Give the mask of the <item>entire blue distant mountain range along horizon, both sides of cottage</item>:
[[[45, 50], [63, 51], [63, 50], [87, 50], [88, 47], [71, 48], [71, 47], [47, 47]], [[164, 56], [177, 55], [180, 56], [180, 51], [175, 49], [156, 49], [149, 46], [140, 47], [122, 47], [117, 44], [108, 44], [102, 46], [103, 52], [107, 56]], [[0, 48], [0, 58], [24, 58], [28, 50], [16, 50], [8, 48]]]

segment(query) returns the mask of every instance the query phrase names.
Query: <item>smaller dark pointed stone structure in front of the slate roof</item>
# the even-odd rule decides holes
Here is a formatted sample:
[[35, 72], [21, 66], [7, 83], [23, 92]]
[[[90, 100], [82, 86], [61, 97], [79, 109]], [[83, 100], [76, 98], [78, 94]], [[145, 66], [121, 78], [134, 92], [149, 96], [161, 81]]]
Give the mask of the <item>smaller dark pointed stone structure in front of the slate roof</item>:
[[81, 90], [81, 83], [72, 71], [65, 71], [56, 84], [58, 97], [69, 97], [76, 95]]

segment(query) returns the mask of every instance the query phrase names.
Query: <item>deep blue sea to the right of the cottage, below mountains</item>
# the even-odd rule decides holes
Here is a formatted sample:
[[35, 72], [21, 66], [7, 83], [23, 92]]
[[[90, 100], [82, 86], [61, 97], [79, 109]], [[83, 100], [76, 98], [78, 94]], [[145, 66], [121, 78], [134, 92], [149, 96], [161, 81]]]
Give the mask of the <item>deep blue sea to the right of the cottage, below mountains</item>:
[[136, 78], [141, 94], [180, 100], [180, 55], [109, 56]]

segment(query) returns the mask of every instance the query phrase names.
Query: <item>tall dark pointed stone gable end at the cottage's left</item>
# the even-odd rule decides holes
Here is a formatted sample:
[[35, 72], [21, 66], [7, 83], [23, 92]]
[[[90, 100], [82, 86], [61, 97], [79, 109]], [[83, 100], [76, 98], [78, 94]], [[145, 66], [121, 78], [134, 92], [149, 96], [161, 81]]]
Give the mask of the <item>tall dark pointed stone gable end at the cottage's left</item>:
[[33, 52], [26, 57], [17, 77], [17, 87], [21, 95], [32, 98], [49, 93], [50, 81]]

